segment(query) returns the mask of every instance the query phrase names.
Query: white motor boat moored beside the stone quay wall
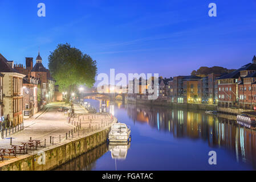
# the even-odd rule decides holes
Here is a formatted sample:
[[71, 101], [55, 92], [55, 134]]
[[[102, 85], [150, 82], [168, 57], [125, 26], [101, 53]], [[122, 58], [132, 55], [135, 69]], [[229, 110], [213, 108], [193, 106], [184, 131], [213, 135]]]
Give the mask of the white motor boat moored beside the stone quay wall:
[[131, 140], [131, 129], [124, 123], [112, 125], [108, 134], [109, 142], [128, 142]]

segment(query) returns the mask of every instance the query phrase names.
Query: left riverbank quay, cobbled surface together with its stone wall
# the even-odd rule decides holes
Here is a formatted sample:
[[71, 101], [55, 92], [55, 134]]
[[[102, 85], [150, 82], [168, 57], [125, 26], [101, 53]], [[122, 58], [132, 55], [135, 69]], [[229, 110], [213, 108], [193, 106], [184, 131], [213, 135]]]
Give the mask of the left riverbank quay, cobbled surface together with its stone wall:
[[[29, 150], [25, 155], [18, 154], [16, 158], [4, 156], [7, 160], [0, 162], [0, 170], [54, 169], [103, 144], [112, 123], [117, 122], [108, 114], [83, 114], [86, 112], [79, 105], [74, 105], [77, 117], [67, 119], [57, 108], [50, 106], [38, 119], [27, 121], [25, 130], [10, 136], [13, 138], [12, 144], [28, 142], [31, 137], [40, 140], [42, 147]], [[0, 146], [11, 147], [10, 138], [1, 140]]]

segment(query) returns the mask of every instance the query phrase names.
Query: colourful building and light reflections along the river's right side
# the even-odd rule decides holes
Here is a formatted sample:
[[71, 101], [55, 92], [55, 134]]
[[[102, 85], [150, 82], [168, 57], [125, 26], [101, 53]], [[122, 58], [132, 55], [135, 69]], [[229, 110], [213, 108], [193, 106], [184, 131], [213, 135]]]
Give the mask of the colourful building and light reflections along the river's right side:
[[250, 163], [256, 168], [256, 131], [238, 125], [229, 116], [217, 117], [197, 110], [164, 109], [127, 105], [133, 122], [145, 123], [174, 138], [204, 140], [210, 147], [223, 147], [234, 154], [237, 162]]

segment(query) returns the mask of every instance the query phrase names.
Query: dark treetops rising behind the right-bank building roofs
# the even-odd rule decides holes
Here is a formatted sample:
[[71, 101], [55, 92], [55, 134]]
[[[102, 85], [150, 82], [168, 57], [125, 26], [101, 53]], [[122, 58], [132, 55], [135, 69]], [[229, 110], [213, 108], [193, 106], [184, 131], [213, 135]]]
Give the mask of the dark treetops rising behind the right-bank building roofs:
[[227, 69], [223, 67], [200, 67], [199, 69], [192, 71], [191, 75], [208, 75], [210, 73], [230, 73], [235, 69]]

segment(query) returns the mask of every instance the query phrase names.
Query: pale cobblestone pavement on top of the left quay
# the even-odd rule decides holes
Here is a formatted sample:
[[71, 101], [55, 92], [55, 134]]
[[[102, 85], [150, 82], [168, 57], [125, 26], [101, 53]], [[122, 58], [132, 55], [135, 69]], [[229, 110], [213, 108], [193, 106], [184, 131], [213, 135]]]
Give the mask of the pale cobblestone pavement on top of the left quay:
[[[62, 103], [48, 104], [46, 111], [40, 111], [32, 118], [26, 119], [23, 123], [24, 130], [0, 139], [0, 148], [11, 147], [10, 138], [12, 138], [12, 144], [20, 145], [21, 142], [29, 142], [30, 137], [34, 140], [40, 140], [41, 145], [44, 146], [45, 144], [47, 147], [52, 145], [50, 137], [53, 144], [60, 144], [67, 139], [71, 140], [103, 129], [113, 122], [108, 114], [87, 114], [87, 110], [77, 104], [74, 104], [75, 114], [81, 116], [70, 118], [70, 122], [68, 122], [67, 115], [58, 111], [60, 106], [65, 105]], [[28, 152], [31, 154], [33, 151]], [[5, 159], [11, 158], [14, 156], [5, 156]]]

